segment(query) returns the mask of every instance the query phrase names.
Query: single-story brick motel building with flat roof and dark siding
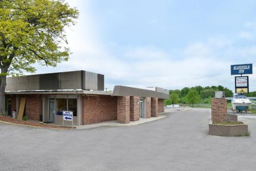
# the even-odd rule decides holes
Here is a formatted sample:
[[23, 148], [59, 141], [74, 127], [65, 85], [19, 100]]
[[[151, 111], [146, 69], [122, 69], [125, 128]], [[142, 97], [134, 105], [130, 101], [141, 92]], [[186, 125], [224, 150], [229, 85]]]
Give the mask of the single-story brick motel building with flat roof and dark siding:
[[88, 71], [7, 77], [5, 93], [8, 115], [21, 111], [31, 120], [61, 124], [62, 111], [72, 111], [74, 125], [157, 117], [169, 98], [169, 92], [158, 87], [115, 86], [106, 92], [104, 75]]

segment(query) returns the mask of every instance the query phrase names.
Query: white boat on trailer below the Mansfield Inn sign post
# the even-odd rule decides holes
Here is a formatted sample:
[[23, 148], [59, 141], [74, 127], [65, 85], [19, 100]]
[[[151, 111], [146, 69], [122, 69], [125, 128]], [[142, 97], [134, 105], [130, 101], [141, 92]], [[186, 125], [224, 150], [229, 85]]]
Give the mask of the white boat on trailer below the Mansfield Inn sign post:
[[251, 101], [245, 95], [238, 94], [233, 96], [231, 104], [232, 110], [238, 112], [247, 112], [247, 109], [249, 108]]

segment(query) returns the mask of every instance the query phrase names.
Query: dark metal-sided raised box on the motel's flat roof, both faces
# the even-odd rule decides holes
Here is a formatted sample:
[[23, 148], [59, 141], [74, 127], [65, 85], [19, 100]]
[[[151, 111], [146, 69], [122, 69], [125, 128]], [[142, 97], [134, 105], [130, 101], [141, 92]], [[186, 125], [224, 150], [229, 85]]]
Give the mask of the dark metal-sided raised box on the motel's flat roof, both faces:
[[88, 71], [72, 71], [8, 77], [6, 86], [6, 91], [76, 89], [103, 91], [104, 75]]

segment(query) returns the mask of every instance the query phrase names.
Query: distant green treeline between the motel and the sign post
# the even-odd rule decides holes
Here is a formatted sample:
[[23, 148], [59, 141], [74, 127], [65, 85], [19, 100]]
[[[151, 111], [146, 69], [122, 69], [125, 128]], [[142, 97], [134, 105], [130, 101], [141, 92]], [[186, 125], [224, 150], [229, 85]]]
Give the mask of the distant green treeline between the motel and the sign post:
[[210, 103], [211, 98], [215, 97], [216, 91], [225, 91], [226, 97], [233, 97], [233, 92], [227, 88], [224, 88], [223, 86], [184, 87], [181, 90], [169, 90], [169, 99], [165, 100], [165, 104]]

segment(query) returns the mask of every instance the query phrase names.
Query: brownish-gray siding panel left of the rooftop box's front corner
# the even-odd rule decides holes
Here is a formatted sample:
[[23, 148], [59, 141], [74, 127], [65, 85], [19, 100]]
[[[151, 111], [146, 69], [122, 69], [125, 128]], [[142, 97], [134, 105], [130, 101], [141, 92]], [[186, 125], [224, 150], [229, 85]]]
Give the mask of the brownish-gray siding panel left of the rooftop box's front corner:
[[60, 90], [82, 89], [81, 71], [60, 73]]

